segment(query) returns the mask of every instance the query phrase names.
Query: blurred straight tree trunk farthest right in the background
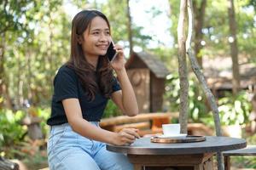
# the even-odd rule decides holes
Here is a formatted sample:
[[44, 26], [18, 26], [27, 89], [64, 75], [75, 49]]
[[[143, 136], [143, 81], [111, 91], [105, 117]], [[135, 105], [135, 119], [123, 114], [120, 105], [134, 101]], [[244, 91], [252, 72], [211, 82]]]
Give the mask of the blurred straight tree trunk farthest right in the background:
[[237, 49], [237, 39], [236, 39], [236, 16], [233, 0], [228, 0], [228, 10], [229, 10], [229, 24], [230, 24], [230, 50], [232, 59], [232, 91], [233, 94], [237, 94], [240, 90], [240, 73], [238, 64], [238, 49]]

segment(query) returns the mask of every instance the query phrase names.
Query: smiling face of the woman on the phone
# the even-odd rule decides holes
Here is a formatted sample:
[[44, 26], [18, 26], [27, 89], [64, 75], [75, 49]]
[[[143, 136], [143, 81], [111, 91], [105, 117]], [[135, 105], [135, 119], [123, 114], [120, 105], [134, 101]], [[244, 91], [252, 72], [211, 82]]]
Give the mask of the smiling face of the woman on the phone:
[[91, 20], [90, 26], [83, 33], [81, 45], [84, 55], [86, 58], [105, 55], [110, 42], [110, 31], [106, 20], [96, 16]]

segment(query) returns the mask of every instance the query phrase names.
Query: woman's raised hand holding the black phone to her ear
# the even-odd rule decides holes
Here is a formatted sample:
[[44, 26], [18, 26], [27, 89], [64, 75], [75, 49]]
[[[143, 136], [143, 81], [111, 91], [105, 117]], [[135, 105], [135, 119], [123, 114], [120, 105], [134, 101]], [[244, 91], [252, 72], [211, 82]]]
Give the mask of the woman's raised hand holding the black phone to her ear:
[[114, 45], [114, 49], [118, 53], [116, 58], [113, 59], [112, 62], [110, 62], [110, 65], [113, 67], [115, 71], [121, 71], [122, 69], [125, 68], [125, 54], [124, 54], [124, 49], [118, 45]]

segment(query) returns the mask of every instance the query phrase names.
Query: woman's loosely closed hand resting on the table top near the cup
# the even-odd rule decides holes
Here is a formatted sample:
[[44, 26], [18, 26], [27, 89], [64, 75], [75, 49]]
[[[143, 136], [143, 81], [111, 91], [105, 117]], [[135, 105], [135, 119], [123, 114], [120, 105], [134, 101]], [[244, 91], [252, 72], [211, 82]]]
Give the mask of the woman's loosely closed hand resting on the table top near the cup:
[[123, 128], [117, 133], [117, 137], [113, 141], [115, 145], [130, 145], [135, 139], [139, 139], [140, 136], [137, 133], [137, 128]]

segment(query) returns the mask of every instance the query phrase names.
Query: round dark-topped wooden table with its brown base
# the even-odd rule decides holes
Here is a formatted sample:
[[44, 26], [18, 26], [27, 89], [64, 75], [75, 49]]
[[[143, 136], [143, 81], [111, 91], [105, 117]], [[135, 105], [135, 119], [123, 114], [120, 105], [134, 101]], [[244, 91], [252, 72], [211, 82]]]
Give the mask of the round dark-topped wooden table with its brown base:
[[141, 170], [143, 166], [208, 170], [213, 169], [212, 156], [216, 152], [246, 146], [245, 139], [207, 136], [205, 141], [177, 144], [151, 143], [150, 138], [141, 138], [130, 146], [107, 144], [107, 150], [127, 154], [135, 170]]

